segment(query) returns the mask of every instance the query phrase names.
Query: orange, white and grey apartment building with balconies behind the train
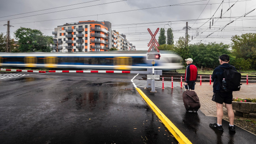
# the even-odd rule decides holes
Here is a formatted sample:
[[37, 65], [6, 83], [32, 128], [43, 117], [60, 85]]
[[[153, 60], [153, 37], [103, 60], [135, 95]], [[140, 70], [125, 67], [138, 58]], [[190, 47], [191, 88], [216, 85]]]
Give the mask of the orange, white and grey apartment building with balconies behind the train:
[[111, 30], [111, 23], [107, 21], [66, 23], [54, 28], [52, 34], [52, 52], [57, 52], [57, 48], [58, 52], [102, 52], [110, 48], [129, 50], [125, 35]]

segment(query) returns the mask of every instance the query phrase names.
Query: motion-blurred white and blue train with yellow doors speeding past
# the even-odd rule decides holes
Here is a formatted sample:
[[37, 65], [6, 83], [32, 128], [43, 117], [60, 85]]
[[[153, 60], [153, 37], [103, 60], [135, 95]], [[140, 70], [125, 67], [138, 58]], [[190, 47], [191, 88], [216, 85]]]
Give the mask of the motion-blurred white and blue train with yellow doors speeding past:
[[[182, 68], [181, 57], [161, 51], [154, 68], [169, 71]], [[0, 67], [77, 68], [146, 70], [152, 67], [146, 51], [112, 51], [88, 53], [0, 53]]]

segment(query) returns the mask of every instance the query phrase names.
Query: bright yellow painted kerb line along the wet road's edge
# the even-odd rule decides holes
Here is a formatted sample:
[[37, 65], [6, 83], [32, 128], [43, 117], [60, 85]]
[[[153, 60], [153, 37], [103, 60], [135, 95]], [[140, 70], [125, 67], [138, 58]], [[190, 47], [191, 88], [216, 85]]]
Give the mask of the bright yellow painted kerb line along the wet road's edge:
[[161, 110], [139, 89], [136, 87], [136, 90], [140, 93], [144, 101], [151, 107], [151, 109], [157, 114], [158, 118], [163, 122], [166, 128], [173, 134], [175, 139], [180, 144], [192, 144], [187, 137], [162, 113]]

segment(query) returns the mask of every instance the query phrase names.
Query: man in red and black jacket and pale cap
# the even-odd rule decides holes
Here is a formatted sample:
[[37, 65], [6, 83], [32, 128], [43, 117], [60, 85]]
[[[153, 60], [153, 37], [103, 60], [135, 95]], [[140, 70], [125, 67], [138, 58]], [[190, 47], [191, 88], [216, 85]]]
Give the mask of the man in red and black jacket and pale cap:
[[185, 72], [185, 88], [188, 88], [192, 91], [195, 90], [196, 78], [197, 78], [197, 68], [192, 64], [192, 58], [188, 58], [185, 60], [187, 63], [187, 68]]

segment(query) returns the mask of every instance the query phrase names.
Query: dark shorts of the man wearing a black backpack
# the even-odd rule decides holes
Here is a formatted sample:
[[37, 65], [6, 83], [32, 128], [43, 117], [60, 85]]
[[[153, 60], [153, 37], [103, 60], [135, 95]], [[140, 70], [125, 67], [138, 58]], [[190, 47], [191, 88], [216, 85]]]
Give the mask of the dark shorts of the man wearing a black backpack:
[[232, 104], [233, 94], [231, 92], [214, 92], [212, 96], [212, 101], [223, 104]]

